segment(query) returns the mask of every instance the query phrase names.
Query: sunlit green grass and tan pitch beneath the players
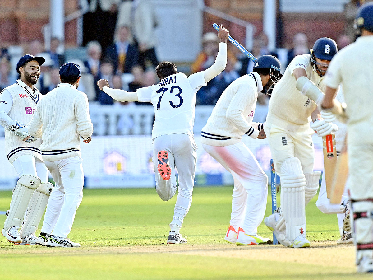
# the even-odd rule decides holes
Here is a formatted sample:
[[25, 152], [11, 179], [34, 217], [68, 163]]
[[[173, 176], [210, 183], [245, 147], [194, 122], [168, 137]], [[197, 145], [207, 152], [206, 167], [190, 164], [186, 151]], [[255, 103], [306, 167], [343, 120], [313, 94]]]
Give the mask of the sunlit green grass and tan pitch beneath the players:
[[[0, 192], [0, 211], [8, 209], [10, 197], [11, 192]], [[307, 206], [307, 237], [312, 247], [306, 249], [223, 242], [231, 187], [196, 187], [181, 230], [188, 244], [167, 245], [175, 201], [176, 196], [162, 201], [154, 189], [84, 190], [69, 234], [82, 247], [13, 246], [0, 236], [0, 280], [357, 277], [353, 247], [335, 246], [339, 238], [336, 216], [321, 214], [316, 198]], [[269, 195], [266, 215], [270, 212]], [[4, 220], [1, 215], [0, 223]], [[258, 233], [272, 239], [264, 223]]]

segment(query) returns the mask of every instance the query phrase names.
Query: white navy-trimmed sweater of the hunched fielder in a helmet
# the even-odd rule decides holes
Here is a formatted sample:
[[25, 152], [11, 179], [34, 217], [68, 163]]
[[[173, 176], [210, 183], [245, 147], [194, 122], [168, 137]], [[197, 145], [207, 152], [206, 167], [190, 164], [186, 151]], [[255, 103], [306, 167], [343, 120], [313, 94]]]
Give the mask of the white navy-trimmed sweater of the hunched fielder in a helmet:
[[263, 124], [252, 121], [261, 90], [263, 85], [256, 72], [228, 85], [202, 128], [201, 142], [211, 146], [228, 146], [238, 143], [244, 134], [257, 138]]

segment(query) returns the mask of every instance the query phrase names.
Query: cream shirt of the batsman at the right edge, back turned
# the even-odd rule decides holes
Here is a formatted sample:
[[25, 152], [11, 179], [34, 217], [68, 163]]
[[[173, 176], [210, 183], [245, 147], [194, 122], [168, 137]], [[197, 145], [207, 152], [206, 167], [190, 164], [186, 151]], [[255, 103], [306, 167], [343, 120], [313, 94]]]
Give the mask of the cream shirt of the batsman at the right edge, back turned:
[[[349, 140], [373, 139], [373, 35], [361, 36], [344, 47], [329, 64], [325, 83], [341, 83], [348, 116]], [[351, 130], [351, 133], [350, 133]]]

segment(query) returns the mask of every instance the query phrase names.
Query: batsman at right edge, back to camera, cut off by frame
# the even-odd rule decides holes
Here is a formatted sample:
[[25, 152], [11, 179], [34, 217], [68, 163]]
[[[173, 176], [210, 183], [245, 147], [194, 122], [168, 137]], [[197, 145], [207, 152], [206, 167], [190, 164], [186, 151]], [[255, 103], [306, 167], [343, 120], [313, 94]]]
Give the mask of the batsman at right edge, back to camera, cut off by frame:
[[[321, 109], [348, 119], [348, 168], [357, 271], [373, 273], [373, 4], [361, 6], [354, 27], [355, 43], [336, 55], [322, 92], [306, 92]], [[333, 100], [342, 84], [346, 103]], [[347, 171], [346, 171], [347, 172]]]

